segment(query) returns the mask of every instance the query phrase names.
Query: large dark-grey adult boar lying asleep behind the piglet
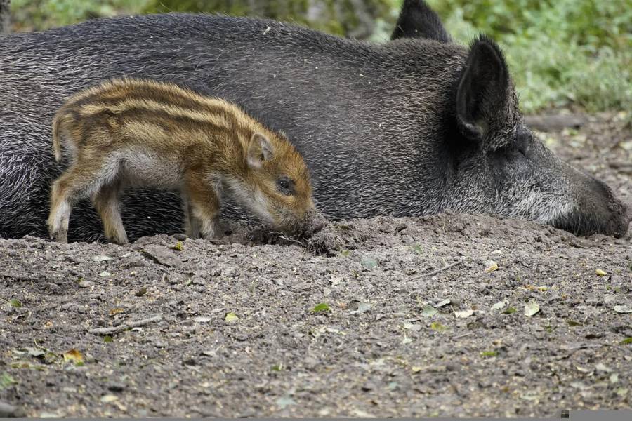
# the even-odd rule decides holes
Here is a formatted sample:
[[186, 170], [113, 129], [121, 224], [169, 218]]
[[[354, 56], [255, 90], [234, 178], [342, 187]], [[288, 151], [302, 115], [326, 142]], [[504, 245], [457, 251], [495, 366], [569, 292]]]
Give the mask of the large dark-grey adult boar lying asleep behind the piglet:
[[[631, 215], [612, 191], [525, 126], [494, 41], [452, 44], [420, 1], [404, 4], [393, 35], [376, 45], [271, 20], [166, 14], [0, 38], [0, 234], [47, 236], [62, 171], [53, 114], [114, 76], [174, 81], [285, 131], [329, 218], [453, 210], [626, 233]], [[174, 196], [139, 190], [123, 208], [131, 240], [182, 230]], [[70, 240], [102, 238], [88, 203], [73, 216]]]

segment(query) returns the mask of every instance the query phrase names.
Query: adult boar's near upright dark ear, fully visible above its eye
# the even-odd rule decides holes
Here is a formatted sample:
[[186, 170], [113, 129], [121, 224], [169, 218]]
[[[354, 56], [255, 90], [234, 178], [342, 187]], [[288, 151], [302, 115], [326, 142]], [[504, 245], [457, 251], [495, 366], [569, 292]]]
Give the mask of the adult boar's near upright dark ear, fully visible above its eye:
[[456, 117], [469, 138], [487, 134], [508, 97], [509, 73], [499, 46], [487, 36], [472, 43], [456, 91]]

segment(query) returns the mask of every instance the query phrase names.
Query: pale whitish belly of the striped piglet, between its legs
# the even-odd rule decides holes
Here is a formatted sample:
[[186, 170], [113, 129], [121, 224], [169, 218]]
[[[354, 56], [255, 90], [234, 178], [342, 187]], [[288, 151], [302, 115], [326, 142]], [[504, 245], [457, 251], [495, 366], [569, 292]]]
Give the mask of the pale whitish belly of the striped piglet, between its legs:
[[121, 156], [119, 162], [121, 175], [131, 187], [173, 190], [182, 185], [185, 166], [175, 157], [131, 152]]

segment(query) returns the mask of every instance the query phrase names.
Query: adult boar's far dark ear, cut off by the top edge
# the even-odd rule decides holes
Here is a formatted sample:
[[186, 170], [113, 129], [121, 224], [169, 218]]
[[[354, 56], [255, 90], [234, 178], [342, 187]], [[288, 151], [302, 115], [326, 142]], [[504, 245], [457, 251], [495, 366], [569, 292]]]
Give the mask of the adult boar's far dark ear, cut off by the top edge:
[[405, 0], [397, 19], [395, 30], [390, 39], [426, 38], [439, 42], [450, 42], [439, 15], [433, 11], [426, 1]]

